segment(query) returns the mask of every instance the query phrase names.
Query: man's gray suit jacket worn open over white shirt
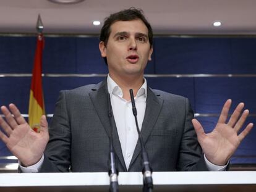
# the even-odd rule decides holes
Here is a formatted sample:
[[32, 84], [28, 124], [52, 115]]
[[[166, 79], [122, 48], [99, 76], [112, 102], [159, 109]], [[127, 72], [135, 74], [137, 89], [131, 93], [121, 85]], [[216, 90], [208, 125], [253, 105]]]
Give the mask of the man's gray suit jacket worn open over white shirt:
[[[107, 94], [106, 80], [61, 91], [40, 172], [108, 172]], [[187, 98], [148, 88], [141, 133], [153, 171], [207, 170], [192, 118]], [[116, 125], [113, 144], [119, 172], [142, 170], [139, 142], [126, 169]]]

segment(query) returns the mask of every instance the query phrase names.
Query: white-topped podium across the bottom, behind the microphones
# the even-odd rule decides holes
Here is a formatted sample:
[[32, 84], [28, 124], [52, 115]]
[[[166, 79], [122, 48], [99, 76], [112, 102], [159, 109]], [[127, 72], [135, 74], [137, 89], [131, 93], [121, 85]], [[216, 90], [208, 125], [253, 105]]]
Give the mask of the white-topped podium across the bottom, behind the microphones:
[[[121, 172], [119, 191], [142, 191], [142, 173]], [[153, 172], [154, 191], [256, 191], [256, 172]], [[108, 191], [108, 173], [1, 173], [0, 191]]]

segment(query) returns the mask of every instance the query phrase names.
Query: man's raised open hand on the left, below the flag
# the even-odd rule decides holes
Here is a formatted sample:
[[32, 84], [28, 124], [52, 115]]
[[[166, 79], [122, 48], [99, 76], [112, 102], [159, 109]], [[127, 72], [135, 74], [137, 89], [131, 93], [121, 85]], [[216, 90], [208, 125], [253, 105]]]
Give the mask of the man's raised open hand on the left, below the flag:
[[0, 131], [0, 138], [22, 165], [27, 167], [36, 164], [41, 159], [49, 140], [46, 117], [41, 117], [40, 133], [36, 133], [14, 104], [10, 104], [9, 109], [6, 106], [1, 107], [5, 120], [0, 116], [0, 126], [5, 134]]

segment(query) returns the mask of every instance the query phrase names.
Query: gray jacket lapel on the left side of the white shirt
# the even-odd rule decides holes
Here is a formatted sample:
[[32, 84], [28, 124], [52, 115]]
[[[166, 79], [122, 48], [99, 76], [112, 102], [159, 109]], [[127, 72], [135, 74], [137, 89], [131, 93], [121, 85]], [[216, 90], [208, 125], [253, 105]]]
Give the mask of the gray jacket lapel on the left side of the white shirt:
[[[98, 114], [98, 117], [100, 118], [100, 121], [105, 128], [106, 133], [108, 136], [111, 135], [111, 126], [109, 122], [108, 117], [108, 86], [106, 83], [106, 80], [102, 83], [99, 83], [96, 85], [95, 89], [92, 89], [92, 93], [90, 93], [90, 98], [92, 99], [93, 106], [95, 107], [95, 110]], [[114, 120], [113, 120], [114, 122]], [[119, 158], [119, 161], [121, 162], [122, 167], [124, 170], [126, 170], [126, 164], [124, 162], [124, 157], [122, 156], [122, 148], [121, 143], [119, 141], [116, 123], [113, 125], [113, 145], [114, 145], [114, 151], [116, 153], [116, 156]]]

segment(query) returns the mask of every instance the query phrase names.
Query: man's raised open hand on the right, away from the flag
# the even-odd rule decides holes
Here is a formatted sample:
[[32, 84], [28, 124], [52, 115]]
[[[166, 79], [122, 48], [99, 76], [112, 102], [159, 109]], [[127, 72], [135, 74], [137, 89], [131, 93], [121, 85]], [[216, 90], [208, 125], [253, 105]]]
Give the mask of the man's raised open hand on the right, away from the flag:
[[254, 126], [253, 123], [249, 123], [241, 133], [238, 133], [249, 115], [249, 110], [246, 109], [242, 112], [244, 103], [239, 103], [228, 123], [226, 123], [230, 106], [231, 99], [228, 99], [223, 106], [215, 129], [211, 133], [206, 134], [198, 120], [192, 120], [198, 142], [205, 156], [208, 161], [216, 165], [225, 165], [228, 162], [228, 159], [234, 154], [241, 141]]

